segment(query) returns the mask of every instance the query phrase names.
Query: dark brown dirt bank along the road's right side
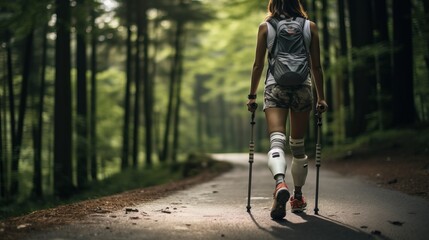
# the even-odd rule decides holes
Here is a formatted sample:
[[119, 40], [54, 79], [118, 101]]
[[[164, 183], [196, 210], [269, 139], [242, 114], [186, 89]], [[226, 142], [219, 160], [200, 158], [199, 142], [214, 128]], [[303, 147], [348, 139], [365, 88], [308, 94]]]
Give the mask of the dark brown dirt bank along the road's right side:
[[361, 176], [380, 187], [404, 192], [429, 201], [429, 157], [392, 149], [383, 153], [351, 153], [324, 167], [345, 176]]

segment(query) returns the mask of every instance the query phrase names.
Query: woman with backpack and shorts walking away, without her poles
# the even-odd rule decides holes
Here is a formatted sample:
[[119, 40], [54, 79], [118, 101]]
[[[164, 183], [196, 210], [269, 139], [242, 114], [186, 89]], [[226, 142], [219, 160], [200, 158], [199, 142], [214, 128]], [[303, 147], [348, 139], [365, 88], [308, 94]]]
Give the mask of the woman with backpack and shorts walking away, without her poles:
[[[313, 106], [312, 79], [317, 92], [316, 111], [324, 112], [328, 107], [323, 91], [318, 30], [316, 24], [307, 18], [299, 0], [270, 0], [268, 16], [259, 25], [258, 31], [247, 106], [251, 112], [256, 110], [256, 92], [268, 52], [264, 112], [270, 136], [268, 168], [276, 183], [271, 208], [271, 217], [275, 220], [286, 216], [289, 200], [292, 212], [304, 211], [307, 206], [302, 194], [308, 172], [304, 136]], [[288, 115], [294, 184], [292, 196], [285, 183]]]

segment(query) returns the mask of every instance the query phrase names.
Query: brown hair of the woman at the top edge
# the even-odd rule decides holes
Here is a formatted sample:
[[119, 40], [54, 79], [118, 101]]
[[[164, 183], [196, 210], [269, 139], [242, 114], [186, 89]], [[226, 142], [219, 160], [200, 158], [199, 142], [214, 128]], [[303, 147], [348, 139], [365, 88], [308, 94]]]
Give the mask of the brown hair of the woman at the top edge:
[[308, 18], [300, 0], [270, 0], [267, 19], [286, 14], [289, 17]]

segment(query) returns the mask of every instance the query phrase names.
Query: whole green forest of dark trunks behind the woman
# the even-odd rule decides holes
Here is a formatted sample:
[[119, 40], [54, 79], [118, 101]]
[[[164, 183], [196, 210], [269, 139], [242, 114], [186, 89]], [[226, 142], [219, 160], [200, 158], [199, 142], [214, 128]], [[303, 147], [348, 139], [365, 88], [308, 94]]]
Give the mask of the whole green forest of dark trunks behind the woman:
[[[301, 2], [320, 32], [324, 146], [428, 126], [428, 1]], [[0, 200], [69, 198], [126, 169], [246, 152], [267, 3], [1, 1]], [[256, 121], [264, 152], [260, 108]]]

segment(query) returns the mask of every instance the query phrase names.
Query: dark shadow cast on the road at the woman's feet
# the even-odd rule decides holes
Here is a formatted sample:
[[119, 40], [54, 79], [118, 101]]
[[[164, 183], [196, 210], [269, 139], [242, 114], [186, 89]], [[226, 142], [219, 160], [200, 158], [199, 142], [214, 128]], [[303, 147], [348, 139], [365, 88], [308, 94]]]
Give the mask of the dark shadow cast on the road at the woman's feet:
[[[293, 213], [288, 213], [293, 214]], [[307, 215], [305, 213], [295, 214], [294, 218], [300, 218], [299, 222], [291, 222], [287, 219], [275, 221], [271, 227], [262, 227], [249, 213], [250, 218], [259, 230], [271, 234], [273, 237], [283, 239], [388, 239], [379, 235], [371, 235], [359, 229], [344, 225], [324, 216]], [[276, 224], [275, 224], [276, 223]]]

